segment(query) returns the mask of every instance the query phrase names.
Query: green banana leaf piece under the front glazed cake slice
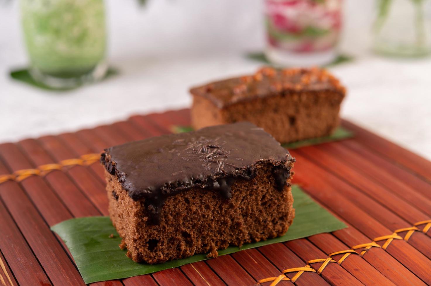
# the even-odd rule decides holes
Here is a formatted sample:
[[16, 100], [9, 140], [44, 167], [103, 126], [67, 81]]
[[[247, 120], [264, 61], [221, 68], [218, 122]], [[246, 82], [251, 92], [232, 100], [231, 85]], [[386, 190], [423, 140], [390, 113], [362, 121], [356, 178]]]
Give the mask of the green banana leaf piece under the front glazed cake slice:
[[[297, 185], [292, 187], [292, 193], [296, 217], [286, 234], [265, 241], [247, 243], [240, 248], [230, 246], [227, 249], [220, 250], [219, 255], [309, 237], [314, 234], [337, 231], [347, 227], [313, 201]], [[112, 226], [109, 217], [106, 216], [72, 218], [54, 225], [51, 230], [56, 232], [66, 243], [82, 278], [87, 284], [149, 274], [208, 259], [206, 254], [197, 254], [161, 264], [136, 263], [126, 257], [125, 250], [119, 249], [118, 245], [121, 238]]]

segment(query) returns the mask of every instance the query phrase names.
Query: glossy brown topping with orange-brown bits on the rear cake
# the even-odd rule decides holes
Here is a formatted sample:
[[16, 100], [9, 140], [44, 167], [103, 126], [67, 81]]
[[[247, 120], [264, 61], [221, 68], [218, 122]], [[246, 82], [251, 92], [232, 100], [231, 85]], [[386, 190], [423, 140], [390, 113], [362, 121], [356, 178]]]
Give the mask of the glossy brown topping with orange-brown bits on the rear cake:
[[294, 68], [276, 70], [261, 68], [255, 74], [208, 83], [190, 90], [205, 97], [218, 108], [235, 103], [298, 91], [332, 90], [345, 93], [340, 82], [325, 69]]

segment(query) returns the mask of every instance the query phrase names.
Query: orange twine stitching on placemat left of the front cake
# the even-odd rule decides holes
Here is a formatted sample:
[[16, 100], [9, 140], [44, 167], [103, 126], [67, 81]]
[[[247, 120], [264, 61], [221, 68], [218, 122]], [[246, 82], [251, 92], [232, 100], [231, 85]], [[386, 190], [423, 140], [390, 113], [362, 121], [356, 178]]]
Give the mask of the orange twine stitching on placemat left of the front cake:
[[99, 158], [100, 158], [100, 154], [98, 153], [84, 154], [79, 158], [62, 160], [58, 164], [57, 163], [45, 164], [45, 165], [38, 166], [35, 169], [18, 170], [13, 172], [12, 174], [0, 175], [0, 184], [6, 181], [20, 182], [33, 175], [43, 177], [53, 170], [61, 170], [63, 167], [66, 167], [66, 166], [76, 166], [76, 165], [89, 166], [97, 162]]

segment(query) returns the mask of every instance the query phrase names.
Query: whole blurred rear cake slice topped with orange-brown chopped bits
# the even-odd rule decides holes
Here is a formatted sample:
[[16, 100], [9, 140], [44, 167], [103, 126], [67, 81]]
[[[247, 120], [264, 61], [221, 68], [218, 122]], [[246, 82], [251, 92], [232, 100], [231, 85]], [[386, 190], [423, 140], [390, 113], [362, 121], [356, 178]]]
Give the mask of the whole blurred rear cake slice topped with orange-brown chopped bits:
[[191, 89], [195, 129], [250, 121], [282, 143], [330, 135], [345, 88], [324, 69], [262, 68]]

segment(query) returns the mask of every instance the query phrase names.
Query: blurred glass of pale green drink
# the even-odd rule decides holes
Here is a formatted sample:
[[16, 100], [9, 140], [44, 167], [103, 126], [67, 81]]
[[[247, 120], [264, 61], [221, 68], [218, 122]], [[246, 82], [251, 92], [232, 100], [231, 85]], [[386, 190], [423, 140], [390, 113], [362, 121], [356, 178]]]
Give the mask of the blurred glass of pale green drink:
[[70, 88], [106, 74], [103, 0], [21, 0], [34, 80]]

